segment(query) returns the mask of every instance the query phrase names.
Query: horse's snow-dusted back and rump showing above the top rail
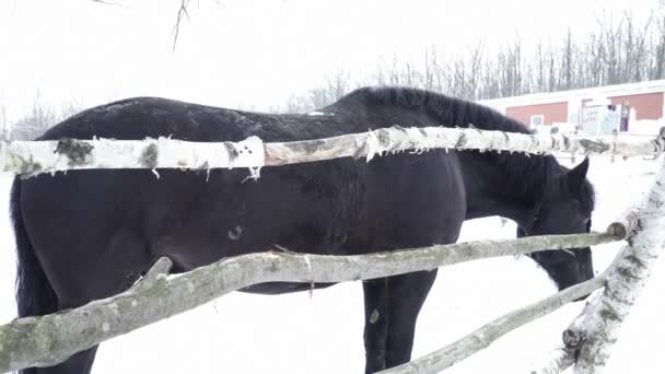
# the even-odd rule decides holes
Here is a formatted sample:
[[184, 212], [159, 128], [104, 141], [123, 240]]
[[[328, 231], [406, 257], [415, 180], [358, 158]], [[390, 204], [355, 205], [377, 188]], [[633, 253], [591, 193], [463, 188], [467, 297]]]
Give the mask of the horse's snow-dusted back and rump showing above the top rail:
[[323, 113], [253, 113], [163, 97], [135, 97], [83, 110], [54, 126], [39, 139], [170, 137], [188, 141], [241, 141], [257, 136], [264, 141], [293, 141], [354, 132], [359, 119], [346, 120], [343, 116]]

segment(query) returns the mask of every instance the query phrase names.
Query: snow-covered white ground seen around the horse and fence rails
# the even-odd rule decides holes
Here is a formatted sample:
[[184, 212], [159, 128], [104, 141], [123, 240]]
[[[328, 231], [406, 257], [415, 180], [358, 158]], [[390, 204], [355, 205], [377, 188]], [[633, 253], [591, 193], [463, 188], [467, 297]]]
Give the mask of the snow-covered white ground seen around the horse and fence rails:
[[[610, 163], [592, 159], [597, 190], [593, 229], [604, 230], [652, 180], [656, 162], [642, 157]], [[14, 243], [9, 226], [11, 177], [0, 177], [0, 322], [14, 316]], [[514, 237], [499, 218], [467, 222], [460, 241]], [[596, 271], [617, 245], [594, 248]], [[556, 292], [545, 272], [525, 257], [446, 267], [421, 312], [415, 357], [454, 341], [485, 323]], [[499, 340], [446, 373], [520, 373], [555, 348], [583, 303], [567, 305]], [[665, 259], [625, 324], [606, 373], [664, 373]], [[102, 344], [93, 373], [361, 373], [362, 293], [358, 282], [307, 293], [260, 296], [234, 293], [168, 320]]]

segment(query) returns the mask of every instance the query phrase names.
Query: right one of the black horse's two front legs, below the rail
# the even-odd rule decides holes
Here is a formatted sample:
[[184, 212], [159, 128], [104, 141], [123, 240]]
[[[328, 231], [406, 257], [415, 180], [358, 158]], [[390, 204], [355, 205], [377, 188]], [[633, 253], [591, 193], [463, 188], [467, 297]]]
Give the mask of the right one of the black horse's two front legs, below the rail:
[[435, 279], [436, 270], [388, 278], [386, 369], [411, 360], [416, 320]]

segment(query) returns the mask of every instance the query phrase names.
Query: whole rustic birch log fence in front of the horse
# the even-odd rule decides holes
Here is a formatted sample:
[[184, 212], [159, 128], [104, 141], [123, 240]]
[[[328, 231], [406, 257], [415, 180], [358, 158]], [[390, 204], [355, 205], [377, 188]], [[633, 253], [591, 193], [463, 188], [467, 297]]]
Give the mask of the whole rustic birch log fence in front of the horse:
[[[658, 156], [665, 150], [665, 132], [661, 131], [661, 136], [653, 139], [618, 140], [474, 128], [396, 126], [365, 133], [283, 143], [264, 143], [255, 137], [235, 143], [194, 143], [164, 138], [144, 141], [16, 141], [0, 142], [0, 171], [30, 177], [67, 170], [152, 168], [159, 177], [155, 170], [162, 167], [247, 167], [250, 176], [258, 178], [260, 168], [265, 166], [347, 156], [370, 161], [384, 153], [421, 152], [434, 148]], [[508, 331], [603, 289], [588, 299], [580, 317], [564, 331], [562, 346], [549, 355], [550, 360], [533, 371], [558, 373], [574, 364], [575, 373], [593, 373], [605, 365], [616, 341], [616, 332], [649, 277], [651, 265], [665, 239], [664, 186], [665, 164], [661, 165], [645, 199], [603, 233], [469, 242], [361, 256], [267, 252], [226, 258], [176, 277], [167, 276], [171, 261], [162, 258], [145, 277], [121, 294], [63, 313], [21, 318], [0, 326], [0, 372], [56, 364], [104, 340], [256, 283], [372, 279], [544, 248], [585, 247], [628, 239], [615, 261], [594, 279], [509, 313], [441, 350], [385, 371], [440, 372], [488, 347]], [[197, 290], [206, 292], [197, 293]]]

